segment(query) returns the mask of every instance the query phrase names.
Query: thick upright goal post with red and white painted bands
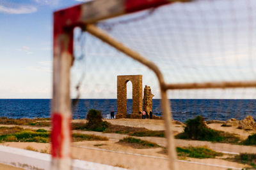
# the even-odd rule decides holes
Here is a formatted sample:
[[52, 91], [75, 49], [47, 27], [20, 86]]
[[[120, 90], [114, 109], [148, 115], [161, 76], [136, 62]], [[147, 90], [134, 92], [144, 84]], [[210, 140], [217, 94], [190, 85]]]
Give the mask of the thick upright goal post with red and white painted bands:
[[73, 61], [73, 30], [65, 30], [59, 17], [54, 13], [51, 169], [70, 170], [70, 67]]

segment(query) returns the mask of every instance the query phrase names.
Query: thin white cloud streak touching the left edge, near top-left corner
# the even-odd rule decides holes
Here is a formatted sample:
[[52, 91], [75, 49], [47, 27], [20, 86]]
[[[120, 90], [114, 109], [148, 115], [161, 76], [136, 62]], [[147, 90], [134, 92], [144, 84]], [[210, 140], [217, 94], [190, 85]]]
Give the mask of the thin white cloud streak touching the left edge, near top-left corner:
[[35, 6], [18, 6], [14, 8], [0, 5], [0, 13], [24, 14], [33, 13], [35, 11], [37, 11], [37, 8]]

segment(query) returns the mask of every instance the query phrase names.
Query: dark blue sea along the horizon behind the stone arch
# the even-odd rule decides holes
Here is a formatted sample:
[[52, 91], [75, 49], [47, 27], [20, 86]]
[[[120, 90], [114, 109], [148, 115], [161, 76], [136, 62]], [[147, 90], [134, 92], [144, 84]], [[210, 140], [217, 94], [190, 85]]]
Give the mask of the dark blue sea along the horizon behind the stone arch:
[[[241, 120], [247, 115], [256, 118], [255, 99], [170, 99], [174, 120], [186, 122], [201, 115], [205, 120]], [[116, 113], [116, 99], [79, 99], [72, 106], [74, 119], [86, 118], [90, 109], [100, 110], [102, 117]], [[127, 99], [127, 114], [131, 114], [132, 99]], [[162, 116], [161, 99], [152, 100], [153, 115]], [[51, 99], [0, 99], [0, 117], [46, 118], [51, 117]]]

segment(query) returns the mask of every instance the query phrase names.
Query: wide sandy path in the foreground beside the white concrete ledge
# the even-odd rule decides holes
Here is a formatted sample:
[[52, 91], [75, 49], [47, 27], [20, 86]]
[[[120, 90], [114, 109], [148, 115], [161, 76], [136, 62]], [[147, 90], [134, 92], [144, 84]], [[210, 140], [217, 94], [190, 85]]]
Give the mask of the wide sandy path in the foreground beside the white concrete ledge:
[[[99, 146], [101, 144], [101, 146]], [[104, 144], [104, 145], [102, 145]], [[36, 150], [48, 150], [49, 143], [4, 143], [5, 146], [26, 148], [31, 146]], [[166, 155], [158, 153], [161, 148], [134, 149], [119, 145], [115, 141], [82, 141], [72, 143], [72, 158], [88, 160], [127, 169], [168, 169]], [[98, 146], [95, 146], [98, 145]], [[241, 169], [243, 164], [220, 159], [186, 159], [178, 160], [179, 169]]]

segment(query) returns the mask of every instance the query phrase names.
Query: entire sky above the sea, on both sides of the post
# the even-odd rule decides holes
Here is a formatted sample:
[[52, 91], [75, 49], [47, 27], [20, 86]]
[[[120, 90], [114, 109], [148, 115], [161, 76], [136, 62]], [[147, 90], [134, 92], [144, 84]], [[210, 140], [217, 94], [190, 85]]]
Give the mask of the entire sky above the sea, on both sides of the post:
[[[1, 99], [51, 98], [52, 13], [79, 3], [0, 0]], [[250, 81], [256, 78], [254, 7], [253, 0], [197, 0], [109, 19], [99, 27], [156, 63], [168, 83]], [[89, 34], [81, 35], [85, 44], [78, 42], [75, 48], [85, 46], [84, 57], [72, 67], [72, 97], [83, 80], [81, 98], [116, 98], [117, 75], [142, 74], [143, 87], [149, 85], [154, 98], [160, 98], [156, 76], [147, 67]], [[81, 35], [77, 29], [75, 37]], [[127, 89], [131, 98], [131, 83]], [[169, 97], [254, 99], [254, 94], [255, 89], [175, 90]]]

